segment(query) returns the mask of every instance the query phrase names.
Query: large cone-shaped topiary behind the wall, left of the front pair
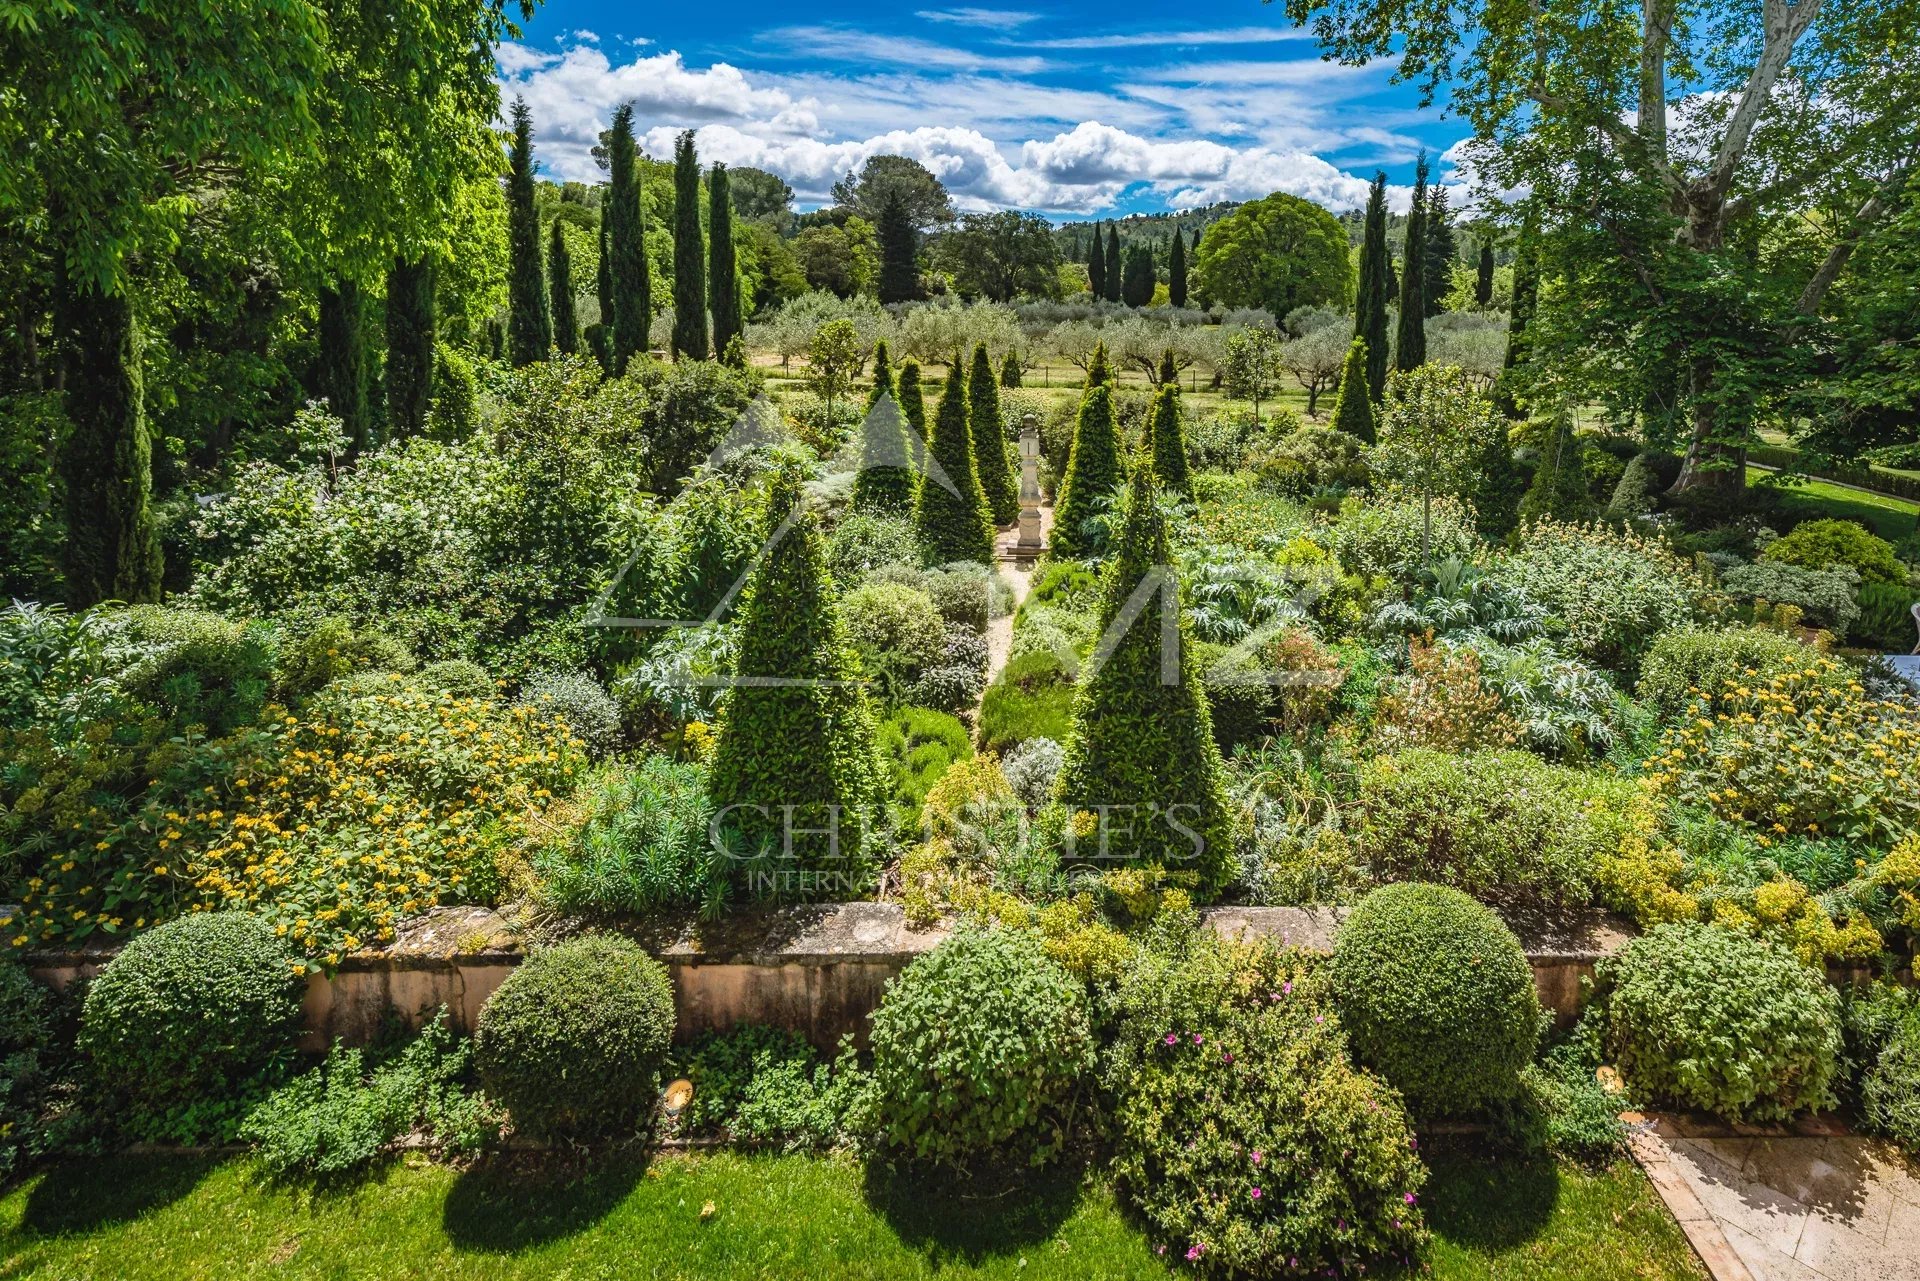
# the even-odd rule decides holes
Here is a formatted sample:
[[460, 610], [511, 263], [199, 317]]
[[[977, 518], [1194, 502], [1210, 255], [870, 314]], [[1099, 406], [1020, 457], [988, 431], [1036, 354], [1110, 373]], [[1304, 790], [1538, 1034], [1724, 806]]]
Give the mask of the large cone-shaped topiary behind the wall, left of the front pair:
[[766, 519], [768, 551], [741, 595], [735, 684], [708, 772], [728, 855], [714, 860], [716, 876], [751, 897], [845, 899], [874, 872], [874, 718], [820, 522], [803, 511], [793, 472], [776, 478]]

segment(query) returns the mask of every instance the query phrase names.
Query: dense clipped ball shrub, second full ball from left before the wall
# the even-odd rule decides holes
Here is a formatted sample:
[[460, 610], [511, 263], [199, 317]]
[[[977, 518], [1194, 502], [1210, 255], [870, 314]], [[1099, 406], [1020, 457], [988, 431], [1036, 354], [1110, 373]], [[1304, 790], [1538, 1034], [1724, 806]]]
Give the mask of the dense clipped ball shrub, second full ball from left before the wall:
[[674, 1035], [674, 983], [639, 945], [582, 935], [532, 953], [480, 1010], [474, 1064], [516, 1129], [599, 1139], [639, 1129]]

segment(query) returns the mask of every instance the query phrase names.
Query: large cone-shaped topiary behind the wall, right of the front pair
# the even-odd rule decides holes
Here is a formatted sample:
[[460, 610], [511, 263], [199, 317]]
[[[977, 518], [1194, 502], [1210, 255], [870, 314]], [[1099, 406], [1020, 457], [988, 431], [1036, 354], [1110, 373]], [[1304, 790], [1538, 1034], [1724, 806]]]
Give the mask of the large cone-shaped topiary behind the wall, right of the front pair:
[[[1233, 826], [1158, 499], [1152, 469], [1140, 467], [1054, 795], [1075, 816], [1073, 858], [1190, 872], [1208, 893], [1231, 872]], [[1081, 814], [1094, 820], [1091, 832]]]

